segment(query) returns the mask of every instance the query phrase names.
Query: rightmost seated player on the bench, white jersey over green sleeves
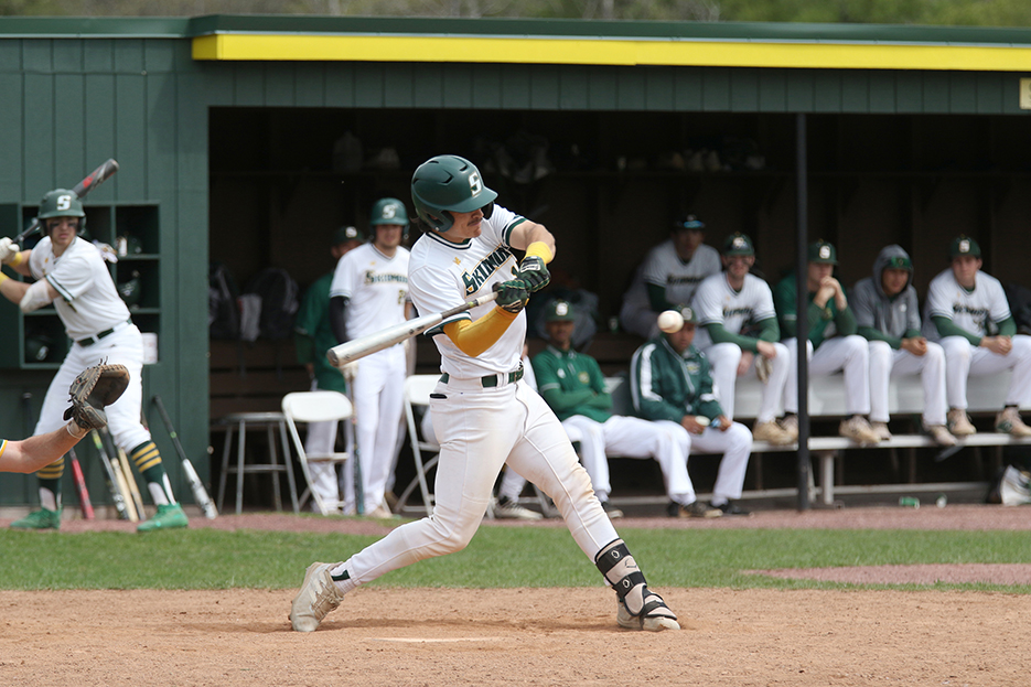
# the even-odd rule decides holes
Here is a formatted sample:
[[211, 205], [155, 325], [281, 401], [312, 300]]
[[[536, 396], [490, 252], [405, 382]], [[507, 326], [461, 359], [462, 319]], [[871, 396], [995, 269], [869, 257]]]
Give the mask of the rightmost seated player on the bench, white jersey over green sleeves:
[[957, 437], [976, 432], [967, 416], [967, 377], [1012, 371], [1006, 406], [995, 429], [1014, 437], [1031, 436], [1020, 407], [1031, 405], [1031, 336], [1017, 333], [1002, 285], [981, 270], [981, 249], [968, 236], [949, 248], [949, 268], [931, 280], [924, 334], [945, 350], [945, 396], [948, 429]]

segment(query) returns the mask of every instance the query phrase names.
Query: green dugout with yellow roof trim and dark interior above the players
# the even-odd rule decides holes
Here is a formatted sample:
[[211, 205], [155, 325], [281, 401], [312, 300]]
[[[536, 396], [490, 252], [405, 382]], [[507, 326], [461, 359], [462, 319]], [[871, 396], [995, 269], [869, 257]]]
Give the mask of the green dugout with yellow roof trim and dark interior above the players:
[[[138, 235], [140, 251], [114, 269], [140, 273], [139, 321], [158, 334], [144, 395], [164, 398], [205, 474], [212, 399], [303, 383], [289, 346], [260, 340], [245, 353], [265, 376], [210, 374], [210, 352], [229, 366], [237, 354], [207, 337], [210, 261], [240, 286], [273, 266], [303, 287], [331, 268], [330, 230], [363, 226], [380, 195], [407, 200], [432, 154], [470, 157], [504, 204], [548, 225], [557, 278], [597, 292], [603, 319], [683, 210], [711, 244], [751, 235], [769, 278], [790, 267], [799, 122], [808, 234], [838, 245], [845, 283], [899, 243], [923, 291], [960, 232], [980, 241], [986, 270], [1027, 283], [1029, 83], [1024, 29], [2, 18], [0, 234], [20, 230], [46, 190], [118, 159], [86, 201], [89, 226], [111, 241]], [[47, 326], [52, 315], [0, 307], [0, 436], [24, 434], [22, 397], [37, 410], [60, 361], [26, 358], [30, 330]], [[103, 501], [99, 471], [89, 485]], [[34, 501], [31, 480], [0, 480], [0, 506]]]

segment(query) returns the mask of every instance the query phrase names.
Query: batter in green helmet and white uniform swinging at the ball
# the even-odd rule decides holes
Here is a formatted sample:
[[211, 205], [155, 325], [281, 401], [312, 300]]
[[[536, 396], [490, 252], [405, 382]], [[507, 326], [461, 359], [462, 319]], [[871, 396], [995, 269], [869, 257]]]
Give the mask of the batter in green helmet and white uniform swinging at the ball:
[[[293, 629], [315, 630], [345, 593], [385, 572], [463, 549], [507, 462], [555, 501], [573, 539], [615, 589], [620, 625], [679, 630], [594, 496], [558, 418], [522, 382], [523, 307], [548, 283], [545, 264], [555, 255], [555, 238], [543, 225], [494, 205], [497, 194], [457, 155], [421, 164], [411, 197], [425, 225], [408, 272], [419, 312], [441, 312], [495, 289], [497, 301], [427, 332], [443, 372], [430, 395], [441, 446], [433, 515], [398, 527], [344, 562], [312, 563], [293, 599]], [[522, 262], [513, 249], [526, 251]]]

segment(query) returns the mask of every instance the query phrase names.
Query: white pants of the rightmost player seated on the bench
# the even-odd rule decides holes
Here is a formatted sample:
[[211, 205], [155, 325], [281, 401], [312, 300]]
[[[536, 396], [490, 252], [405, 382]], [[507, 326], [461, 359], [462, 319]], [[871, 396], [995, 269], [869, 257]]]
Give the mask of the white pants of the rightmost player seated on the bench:
[[992, 353], [970, 344], [963, 336], [946, 336], [941, 341], [945, 350], [945, 388], [949, 408], [966, 409], [967, 377], [994, 375], [1013, 371], [1006, 391], [1006, 405], [1031, 407], [1031, 336], [1012, 337], [1013, 347], [1007, 355]]

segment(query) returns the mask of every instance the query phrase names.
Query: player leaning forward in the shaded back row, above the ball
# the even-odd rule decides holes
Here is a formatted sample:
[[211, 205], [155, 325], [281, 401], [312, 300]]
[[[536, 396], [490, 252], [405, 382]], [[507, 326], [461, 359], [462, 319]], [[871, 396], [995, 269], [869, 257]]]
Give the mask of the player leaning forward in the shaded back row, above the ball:
[[658, 334], [658, 313], [690, 303], [698, 283], [720, 271], [720, 255], [702, 241], [706, 225], [695, 215], [678, 217], [670, 236], [652, 248], [623, 297], [620, 324], [644, 339]]

